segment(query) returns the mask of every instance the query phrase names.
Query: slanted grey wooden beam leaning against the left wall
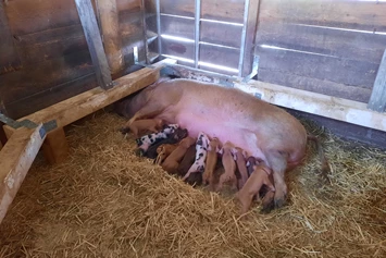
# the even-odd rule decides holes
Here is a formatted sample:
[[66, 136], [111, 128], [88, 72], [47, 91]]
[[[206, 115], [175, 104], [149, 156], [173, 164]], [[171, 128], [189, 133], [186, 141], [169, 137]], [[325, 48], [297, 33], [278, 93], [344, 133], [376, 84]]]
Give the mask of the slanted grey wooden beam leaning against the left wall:
[[104, 53], [102, 39], [90, 0], [75, 0], [80, 17], [83, 30], [86, 36], [92, 64], [100, 87], [108, 89], [113, 86], [108, 59]]

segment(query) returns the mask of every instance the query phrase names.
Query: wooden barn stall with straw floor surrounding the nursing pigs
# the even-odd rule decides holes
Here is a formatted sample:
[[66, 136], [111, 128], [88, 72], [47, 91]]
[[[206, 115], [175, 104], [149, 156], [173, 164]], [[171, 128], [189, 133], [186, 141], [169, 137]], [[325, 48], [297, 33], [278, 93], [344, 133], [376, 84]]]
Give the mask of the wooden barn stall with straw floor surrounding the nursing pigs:
[[[386, 255], [384, 1], [0, 4], [2, 257]], [[111, 106], [160, 74], [286, 109], [329, 182], [308, 145], [287, 205], [242, 220], [232, 196], [137, 157]]]

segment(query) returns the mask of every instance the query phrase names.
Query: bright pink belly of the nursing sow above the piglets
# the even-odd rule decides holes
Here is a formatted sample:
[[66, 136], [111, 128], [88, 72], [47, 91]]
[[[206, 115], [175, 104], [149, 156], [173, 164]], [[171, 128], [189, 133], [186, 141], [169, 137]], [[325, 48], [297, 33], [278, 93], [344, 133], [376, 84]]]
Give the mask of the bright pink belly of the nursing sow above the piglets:
[[[200, 132], [210, 138], [217, 137], [222, 144], [227, 140], [236, 147], [240, 147], [247, 151], [249, 156], [265, 160], [265, 156], [258, 147], [258, 138], [252, 132], [238, 126], [237, 121], [221, 121], [215, 115], [195, 115], [192, 113], [178, 113], [175, 116], [176, 123], [180, 127], [187, 128], [189, 136], [197, 137]], [[232, 123], [234, 122], [234, 123]], [[232, 126], [229, 124], [234, 124]]]

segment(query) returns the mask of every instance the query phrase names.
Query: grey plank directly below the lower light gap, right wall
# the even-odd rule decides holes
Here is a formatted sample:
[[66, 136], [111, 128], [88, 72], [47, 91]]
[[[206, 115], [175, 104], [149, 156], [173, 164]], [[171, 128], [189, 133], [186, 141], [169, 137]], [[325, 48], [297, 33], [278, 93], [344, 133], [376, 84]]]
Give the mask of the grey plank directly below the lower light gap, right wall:
[[[335, 83], [372, 88], [378, 64], [329, 56], [304, 52], [257, 48], [260, 56], [259, 70], [292, 73], [304, 77], [319, 78]], [[259, 79], [269, 82], [271, 75], [259, 75]]]

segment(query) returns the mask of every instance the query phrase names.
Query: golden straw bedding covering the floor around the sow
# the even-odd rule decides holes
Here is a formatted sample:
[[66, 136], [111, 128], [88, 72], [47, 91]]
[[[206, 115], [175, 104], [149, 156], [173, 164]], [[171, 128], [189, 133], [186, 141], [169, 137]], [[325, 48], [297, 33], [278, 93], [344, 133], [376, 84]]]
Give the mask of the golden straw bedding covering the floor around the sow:
[[309, 121], [312, 143], [287, 173], [287, 206], [246, 220], [229, 196], [194, 188], [134, 155], [124, 119], [72, 125], [70, 158], [39, 156], [0, 225], [0, 257], [386, 257], [386, 151], [341, 140]]

